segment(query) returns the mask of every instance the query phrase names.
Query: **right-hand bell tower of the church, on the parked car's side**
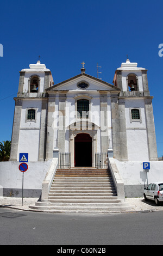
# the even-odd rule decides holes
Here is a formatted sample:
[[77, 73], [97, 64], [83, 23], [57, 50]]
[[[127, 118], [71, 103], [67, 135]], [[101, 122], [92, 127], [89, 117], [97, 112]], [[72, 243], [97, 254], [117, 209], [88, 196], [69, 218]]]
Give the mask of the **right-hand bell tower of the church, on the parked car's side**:
[[158, 160], [147, 70], [127, 59], [116, 70], [113, 83], [121, 89], [116, 102], [118, 129], [113, 125], [115, 157], [121, 161]]

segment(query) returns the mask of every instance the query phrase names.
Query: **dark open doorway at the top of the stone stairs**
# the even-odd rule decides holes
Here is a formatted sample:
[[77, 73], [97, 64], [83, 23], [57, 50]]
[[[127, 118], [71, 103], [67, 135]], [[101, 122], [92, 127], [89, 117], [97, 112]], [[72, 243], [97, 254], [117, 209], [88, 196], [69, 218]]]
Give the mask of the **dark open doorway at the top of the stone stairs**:
[[74, 138], [74, 166], [92, 166], [92, 138], [87, 133], [78, 133]]

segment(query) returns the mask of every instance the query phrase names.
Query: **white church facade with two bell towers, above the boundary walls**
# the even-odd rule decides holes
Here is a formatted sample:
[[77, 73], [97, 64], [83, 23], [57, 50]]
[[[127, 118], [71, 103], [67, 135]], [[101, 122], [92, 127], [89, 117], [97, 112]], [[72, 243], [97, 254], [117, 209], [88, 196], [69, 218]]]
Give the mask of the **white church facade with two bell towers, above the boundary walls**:
[[[71, 153], [71, 167], [95, 167], [96, 153], [119, 161], [156, 161], [156, 138], [147, 70], [122, 63], [114, 85], [85, 73], [54, 84], [38, 61], [20, 72], [10, 161]], [[82, 160], [82, 161], [81, 161]]]

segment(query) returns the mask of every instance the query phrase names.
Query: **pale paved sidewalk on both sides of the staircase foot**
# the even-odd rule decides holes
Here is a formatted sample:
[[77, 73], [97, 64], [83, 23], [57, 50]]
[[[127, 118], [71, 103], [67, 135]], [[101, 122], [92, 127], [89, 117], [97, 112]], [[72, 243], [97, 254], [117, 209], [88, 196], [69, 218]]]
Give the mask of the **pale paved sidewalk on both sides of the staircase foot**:
[[[24, 211], [38, 211], [29, 208], [29, 205], [35, 205], [39, 198], [0, 197], [0, 208], [12, 208]], [[163, 204], [156, 206], [155, 202], [145, 202], [144, 198], [126, 198], [126, 203], [131, 206], [131, 210], [124, 212], [153, 212], [163, 210]]]

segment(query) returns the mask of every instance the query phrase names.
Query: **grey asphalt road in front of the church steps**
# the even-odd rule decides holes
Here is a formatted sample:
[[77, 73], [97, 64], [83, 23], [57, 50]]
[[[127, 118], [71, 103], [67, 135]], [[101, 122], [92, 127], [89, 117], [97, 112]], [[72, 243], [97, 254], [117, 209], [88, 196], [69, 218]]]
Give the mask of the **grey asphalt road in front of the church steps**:
[[88, 215], [0, 208], [0, 228], [0, 245], [57, 245], [57, 250], [64, 245], [163, 244], [162, 211]]

